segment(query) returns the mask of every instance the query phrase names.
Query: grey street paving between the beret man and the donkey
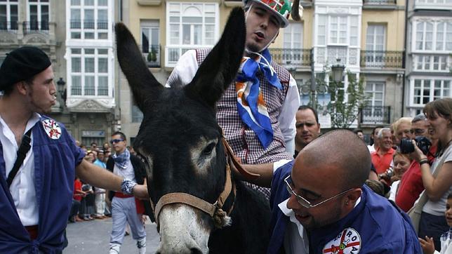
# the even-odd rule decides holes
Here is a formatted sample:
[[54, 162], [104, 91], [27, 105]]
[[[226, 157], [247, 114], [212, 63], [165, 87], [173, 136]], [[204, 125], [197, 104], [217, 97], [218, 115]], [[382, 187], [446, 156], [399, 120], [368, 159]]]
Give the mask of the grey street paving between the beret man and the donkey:
[[[69, 246], [63, 253], [67, 254], [103, 254], [108, 253], [109, 235], [112, 232], [112, 219], [91, 220], [86, 222], [69, 223], [67, 225], [67, 239]], [[146, 253], [155, 253], [159, 245], [159, 234], [156, 225], [147, 220], [146, 223], [147, 248]], [[132, 236], [124, 236], [121, 254], [137, 253], [136, 241]]]

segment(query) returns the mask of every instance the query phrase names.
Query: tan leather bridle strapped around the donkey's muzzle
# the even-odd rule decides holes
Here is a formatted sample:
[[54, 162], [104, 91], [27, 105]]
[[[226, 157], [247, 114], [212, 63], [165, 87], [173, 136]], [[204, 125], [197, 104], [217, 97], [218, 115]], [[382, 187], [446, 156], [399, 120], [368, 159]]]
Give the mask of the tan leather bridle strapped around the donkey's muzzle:
[[234, 163], [234, 166], [237, 168], [237, 171], [239, 171], [241, 175], [244, 175], [245, 178], [248, 179], [258, 178], [259, 175], [249, 173], [248, 171], [244, 170], [244, 168], [241, 167], [239, 161], [237, 161], [237, 158], [234, 156], [234, 153], [232, 152], [232, 149], [230, 145], [227, 143], [224, 136], [222, 137], [222, 143], [223, 146], [225, 147], [225, 156], [226, 156], [226, 167], [225, 167], [226, 180], [225, 188], [221, 192], [220, 196], [218, 196], [218, 199], [215, 201], [215, 203], [209, 203], [208, 201], [200, 199], [197, 196], [193, 196], [183, 192], [173, 192], [161, 196], [161, 198], [157, 202], [157, 206], [154, 206], [154, 203], [151, 200], [150, 203], [152, 206], [152, 210], [154, 210], [154, 217], [157, 223], [157, 229], [159, 229], [159, 214], [161, 212], [161, 208], [171, 203], [184, 203], [188, 206], [197, 208], [203, 211], [204, 213], [207, 213], [208, 215], [211, 216], [211, 218], [213, 218], [215, 216], [215, 213], [219, 209], [222, 209], [222, 206], [225, 204], [227, 197], [230, 196], [232, 191], [234, 193], [234, 200], [232, 201], [231, 208], [227, 211], [227, 215], [230, 215], [230, 213], [232, 213], [236, 196], [236, 187], [231, 177], [232, 172], [230, 168], [230, 161]]

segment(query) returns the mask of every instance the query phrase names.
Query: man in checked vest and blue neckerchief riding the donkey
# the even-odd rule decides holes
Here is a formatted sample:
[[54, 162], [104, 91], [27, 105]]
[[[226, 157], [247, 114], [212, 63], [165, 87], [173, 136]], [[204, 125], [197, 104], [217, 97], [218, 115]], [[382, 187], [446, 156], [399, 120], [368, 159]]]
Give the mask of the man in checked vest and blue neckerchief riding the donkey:
[[[288, 26], [291, 3], [288, 0], [246, 0], [245, 10], [243, 62], [237, 80], [227, 88], [217, 104], [217, 120], [242, 163], [291, 159], [294, 153], [294, 116], [300, 105], [300, 96], [293, 76], [272, 61], [268, 50], [279, 29]], [[197, 49], [182, 55], [166, 86], [190, 83], [208, 52]], [[258, 189], [270, 197], [270, 189]]]

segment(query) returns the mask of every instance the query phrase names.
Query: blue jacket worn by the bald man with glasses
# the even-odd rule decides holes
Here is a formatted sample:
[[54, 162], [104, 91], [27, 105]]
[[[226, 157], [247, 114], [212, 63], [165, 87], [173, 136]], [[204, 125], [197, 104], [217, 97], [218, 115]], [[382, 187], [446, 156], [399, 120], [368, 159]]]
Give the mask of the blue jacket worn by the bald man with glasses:
[[[293, 163], [281, 166], [273, 175], [272, 238], [268, 253], [279, 253], [283, 246], [289, 220], [278, 204], [288, 199], [284, 178], [291, 173], [292, 166]], [[345, 218], [308, 231], [310, 253], [422, 253], [408, 215], [366, 185], [362, 190], [361, 201]]]

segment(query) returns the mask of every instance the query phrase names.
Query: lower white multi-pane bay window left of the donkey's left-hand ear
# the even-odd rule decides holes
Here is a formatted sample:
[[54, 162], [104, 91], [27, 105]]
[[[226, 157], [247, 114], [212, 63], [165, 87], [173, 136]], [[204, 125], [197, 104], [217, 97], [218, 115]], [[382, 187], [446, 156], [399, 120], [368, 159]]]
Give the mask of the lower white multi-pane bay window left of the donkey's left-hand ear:
[[108, 49], [71, 48], [70, 95], [108, 96]]

